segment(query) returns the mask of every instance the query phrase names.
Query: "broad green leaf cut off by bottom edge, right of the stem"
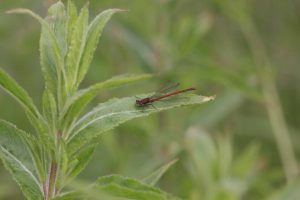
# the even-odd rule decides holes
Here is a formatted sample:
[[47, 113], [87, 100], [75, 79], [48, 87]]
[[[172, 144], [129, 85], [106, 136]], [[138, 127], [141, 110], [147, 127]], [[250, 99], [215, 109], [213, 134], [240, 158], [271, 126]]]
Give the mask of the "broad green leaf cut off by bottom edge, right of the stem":
[[158, 188], [120, 175], [100, 177], [95, 184], [95, 188], [111, 196], [131, 200], [179, 200], [179, 198], [173, 197]]

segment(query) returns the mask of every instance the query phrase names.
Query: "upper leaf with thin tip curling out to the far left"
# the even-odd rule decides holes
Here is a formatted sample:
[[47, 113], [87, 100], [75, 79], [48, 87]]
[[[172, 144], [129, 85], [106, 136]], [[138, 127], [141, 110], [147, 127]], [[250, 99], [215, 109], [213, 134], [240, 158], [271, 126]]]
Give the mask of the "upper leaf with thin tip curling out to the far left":
[[7, 11], [7, 13], [27, 14], [38, 20], [41, 24], [42, 33], [40, 38], [40, 57], [42, 71], [46, 81], [46, 89], [49, 89], [53, 95], [56, 95], [59, 89], [58, 86], [61, 86], [61, 80], [59, 79], [60, 72], [63, 69], [63, 58], [53, 29], [46, 20], [31, 10], [18, 8]]

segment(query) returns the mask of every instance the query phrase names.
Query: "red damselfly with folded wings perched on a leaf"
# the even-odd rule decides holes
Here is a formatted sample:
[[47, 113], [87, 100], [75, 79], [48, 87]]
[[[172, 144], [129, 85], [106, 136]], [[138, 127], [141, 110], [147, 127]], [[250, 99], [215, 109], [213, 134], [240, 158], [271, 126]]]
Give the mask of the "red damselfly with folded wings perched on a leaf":
[[166, 91], [174, 89], [178, 85], [179, 85], [179, 83], [176, 83], [174, 85], [171, 85], [169, 87], [161, 89], [158, 93], [154, 94], [153, 96], [146, 97], [146, 98], [143, 98], [143, 99], [137, 99], [135, 101], [135, 104], [138, 107], [146, 107], [148, 105], [152, 105], [153, 102], [160, 101], [162, 99], [165, 99], [165, 98], [168, 98], [168, 97], [171, 97], [171, 96], [174, 96], [174, 95], [178, 95], [178, 94], [181, 94], [181, 93], [184, 93], [184, 92], [196, 90], [196, 88], [191, 87], [191, 88], [187, 88], [187, 89], [184, 89], [184, 90], [177, 90], [177, 91], [174, 91], [174, 92], [166, 93]]

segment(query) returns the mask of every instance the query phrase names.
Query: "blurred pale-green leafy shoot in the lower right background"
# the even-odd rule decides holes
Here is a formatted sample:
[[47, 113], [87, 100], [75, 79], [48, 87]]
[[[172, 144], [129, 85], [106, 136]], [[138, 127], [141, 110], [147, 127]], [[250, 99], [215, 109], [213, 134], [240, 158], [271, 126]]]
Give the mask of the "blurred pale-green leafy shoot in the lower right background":
[[192, 127], [186, 134], [186, 151], [194, 190], [191, 199], [242, 199], [261, 174], [259, 146], [252, 143], [237, 156], [231, 138], [215, 141], [207, 132]]

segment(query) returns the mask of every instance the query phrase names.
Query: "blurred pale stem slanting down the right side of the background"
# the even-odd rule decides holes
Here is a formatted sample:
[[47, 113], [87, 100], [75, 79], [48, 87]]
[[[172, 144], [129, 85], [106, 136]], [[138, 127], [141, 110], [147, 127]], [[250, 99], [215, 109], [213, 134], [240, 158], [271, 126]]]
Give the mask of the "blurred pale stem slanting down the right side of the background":
[[299, 167], [293, 150], [293, 145], [284, 119], [274, 73], [270, 65], [263, 41], [259, 37], [253, 21], [249, 17], [247, 23], [240, 22], [242, 31], [249, 43], [257, 72], [259, 74], [264, 105], [267, 109], [270, 124], [273, 129], [277, 148], [282, 161], [285, 177], [288, 182], [299, 174]]

